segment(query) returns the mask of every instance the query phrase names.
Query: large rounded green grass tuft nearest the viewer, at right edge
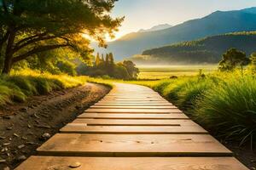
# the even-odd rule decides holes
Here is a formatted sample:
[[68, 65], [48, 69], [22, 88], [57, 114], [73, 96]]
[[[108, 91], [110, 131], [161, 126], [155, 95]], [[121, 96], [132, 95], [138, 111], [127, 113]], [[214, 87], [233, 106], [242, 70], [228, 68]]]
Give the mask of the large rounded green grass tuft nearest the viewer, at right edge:
[[241, 144], [256, 134], [256, 79], [230, 77], [195, 102], [195, 116], [207, 127]]

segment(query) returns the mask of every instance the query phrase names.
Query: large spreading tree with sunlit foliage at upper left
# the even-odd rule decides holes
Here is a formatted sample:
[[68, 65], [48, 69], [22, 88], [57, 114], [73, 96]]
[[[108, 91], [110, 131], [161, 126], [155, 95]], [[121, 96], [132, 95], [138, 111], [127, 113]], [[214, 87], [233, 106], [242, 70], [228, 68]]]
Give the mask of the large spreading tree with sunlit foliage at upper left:
[[[91, 52], [90, 41], [104, 46], [123, 18], [113, 19], [117, 0], [0, 0], [0, 62], [8, 74], [20, 60], [56, 48]], [[86, 35], [86, 36], [84, 36]]]

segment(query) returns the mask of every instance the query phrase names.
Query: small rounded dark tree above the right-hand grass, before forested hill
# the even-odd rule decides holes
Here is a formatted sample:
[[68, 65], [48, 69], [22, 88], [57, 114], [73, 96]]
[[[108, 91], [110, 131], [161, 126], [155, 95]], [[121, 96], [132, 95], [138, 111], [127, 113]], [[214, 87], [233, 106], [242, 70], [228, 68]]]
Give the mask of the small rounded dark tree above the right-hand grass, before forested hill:
[[230, 48], [225, 54], [223, 54], [223, 59], [218, 64], [218, 69], [220, 71], [233, 71], [237, 66], [241, 66], [241, 71], [244, 65], [248, 65], [250, 59], [247, 55], [237, 50], [236, 48]]

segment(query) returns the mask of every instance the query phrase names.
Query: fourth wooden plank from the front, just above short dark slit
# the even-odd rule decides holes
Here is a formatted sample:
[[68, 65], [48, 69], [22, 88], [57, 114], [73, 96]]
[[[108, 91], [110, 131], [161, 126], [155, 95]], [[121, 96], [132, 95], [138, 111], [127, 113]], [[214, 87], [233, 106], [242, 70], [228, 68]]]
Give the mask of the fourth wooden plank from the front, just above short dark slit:
[[75, 119], [72, 123], [87, 126], [198, 126], [190, 120], [138, 120], [138, 119]]

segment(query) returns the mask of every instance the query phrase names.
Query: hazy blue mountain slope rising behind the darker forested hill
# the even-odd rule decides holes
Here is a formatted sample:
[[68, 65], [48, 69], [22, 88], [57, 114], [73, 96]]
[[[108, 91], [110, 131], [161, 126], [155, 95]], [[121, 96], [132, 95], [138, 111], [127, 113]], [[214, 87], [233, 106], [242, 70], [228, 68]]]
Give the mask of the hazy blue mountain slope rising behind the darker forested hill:
[[204, 18], [189, 20], [165, 30], [134, 32], [109, 42], [107, 50], [96, 48], [96, 51], [113, 52], [115, 59], [120, 60], [134, 54], [142, 54], [145, 49], [235, 31], [256, 31], [256, 8], [216, 11]]

